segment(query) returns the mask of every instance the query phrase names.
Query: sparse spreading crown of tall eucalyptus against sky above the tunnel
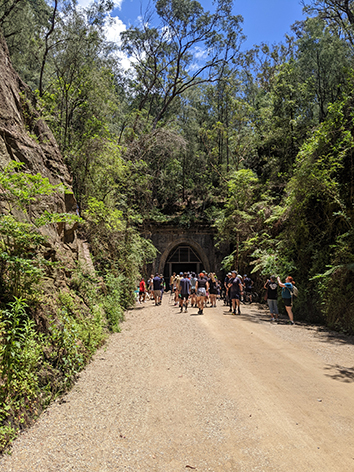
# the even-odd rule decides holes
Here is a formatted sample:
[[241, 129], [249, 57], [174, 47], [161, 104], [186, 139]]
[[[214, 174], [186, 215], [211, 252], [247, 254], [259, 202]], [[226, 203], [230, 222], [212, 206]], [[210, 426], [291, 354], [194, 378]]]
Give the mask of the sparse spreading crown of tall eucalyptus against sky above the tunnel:
[[136, 69], [134, 105], [148, 110], [154, 128], [185, 91], [217, 81], [243, 40], [232, 0], [218, 0], [214, 13], [196, 0], [157, 0], [155, 6], [157, 26], [148, 11], [140, 27], [123, 33], [123, 49]]

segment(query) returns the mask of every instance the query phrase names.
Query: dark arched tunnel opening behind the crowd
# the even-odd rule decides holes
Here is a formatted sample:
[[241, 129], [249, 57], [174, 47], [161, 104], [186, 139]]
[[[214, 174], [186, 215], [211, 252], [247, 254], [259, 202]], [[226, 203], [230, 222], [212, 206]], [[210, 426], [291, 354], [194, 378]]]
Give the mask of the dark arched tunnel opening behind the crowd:
[[175, 247], [169, 254], [165, 267], [164, 277], [166, 285], [169, 284], [170, 277], [173, 272], [195, 272], [199, 274], [204, 270], [203, 262], [197, 252], [187, 245]]

